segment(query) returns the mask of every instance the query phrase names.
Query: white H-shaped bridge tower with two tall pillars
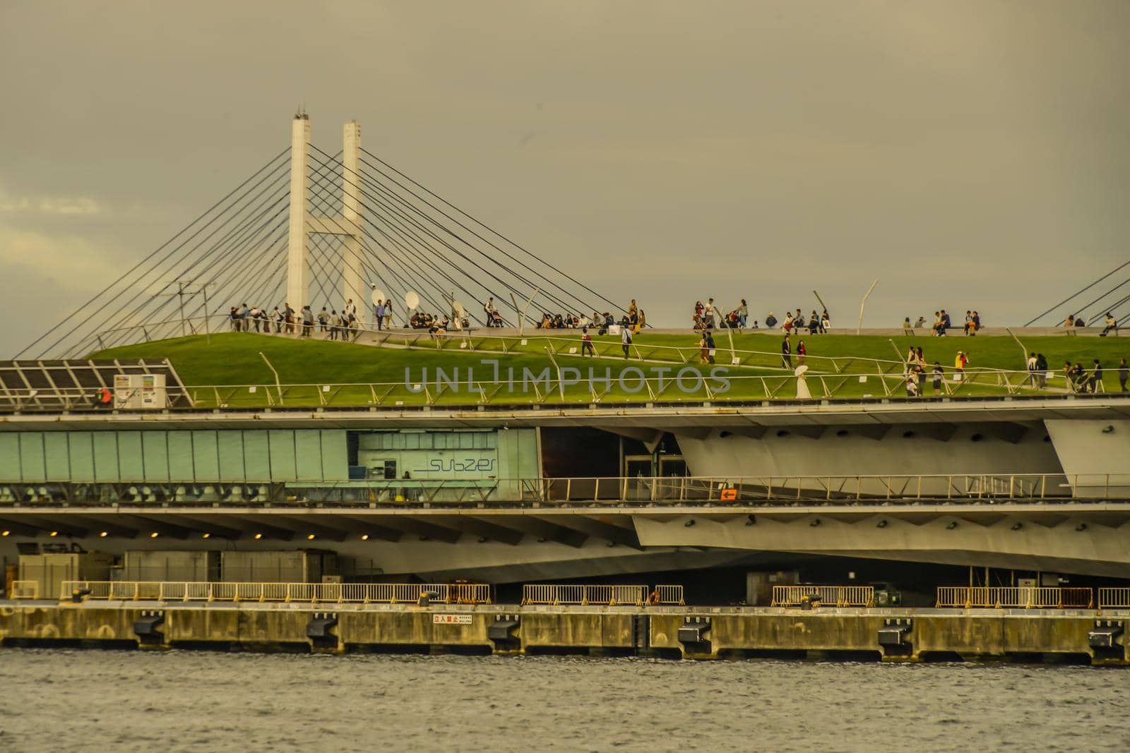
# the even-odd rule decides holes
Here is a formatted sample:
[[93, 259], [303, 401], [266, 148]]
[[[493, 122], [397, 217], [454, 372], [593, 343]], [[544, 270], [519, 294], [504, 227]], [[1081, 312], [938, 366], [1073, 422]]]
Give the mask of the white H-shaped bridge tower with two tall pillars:
[[311, 269], [306, 238], [313, 234], [344, 237], [340, 308], [351, 298], [357, 316], [367, 321], [368, 296], [362, 270], [360, 123], [349, 121], [342, 130], [341, 216], [320, 217], [307, 209], [310, 196], [310, 116], [298, 113], [290, 126], [290, 233], [287, 252], [287, 303], [297, 312], [312, 305]]

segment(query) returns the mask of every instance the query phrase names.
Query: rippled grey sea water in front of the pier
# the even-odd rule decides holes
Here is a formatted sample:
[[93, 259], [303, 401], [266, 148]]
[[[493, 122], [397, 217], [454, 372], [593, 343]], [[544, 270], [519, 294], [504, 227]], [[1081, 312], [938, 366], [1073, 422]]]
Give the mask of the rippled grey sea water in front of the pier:
[[1130, 672], [0, 650], [0, 751], [1128, 751]]

